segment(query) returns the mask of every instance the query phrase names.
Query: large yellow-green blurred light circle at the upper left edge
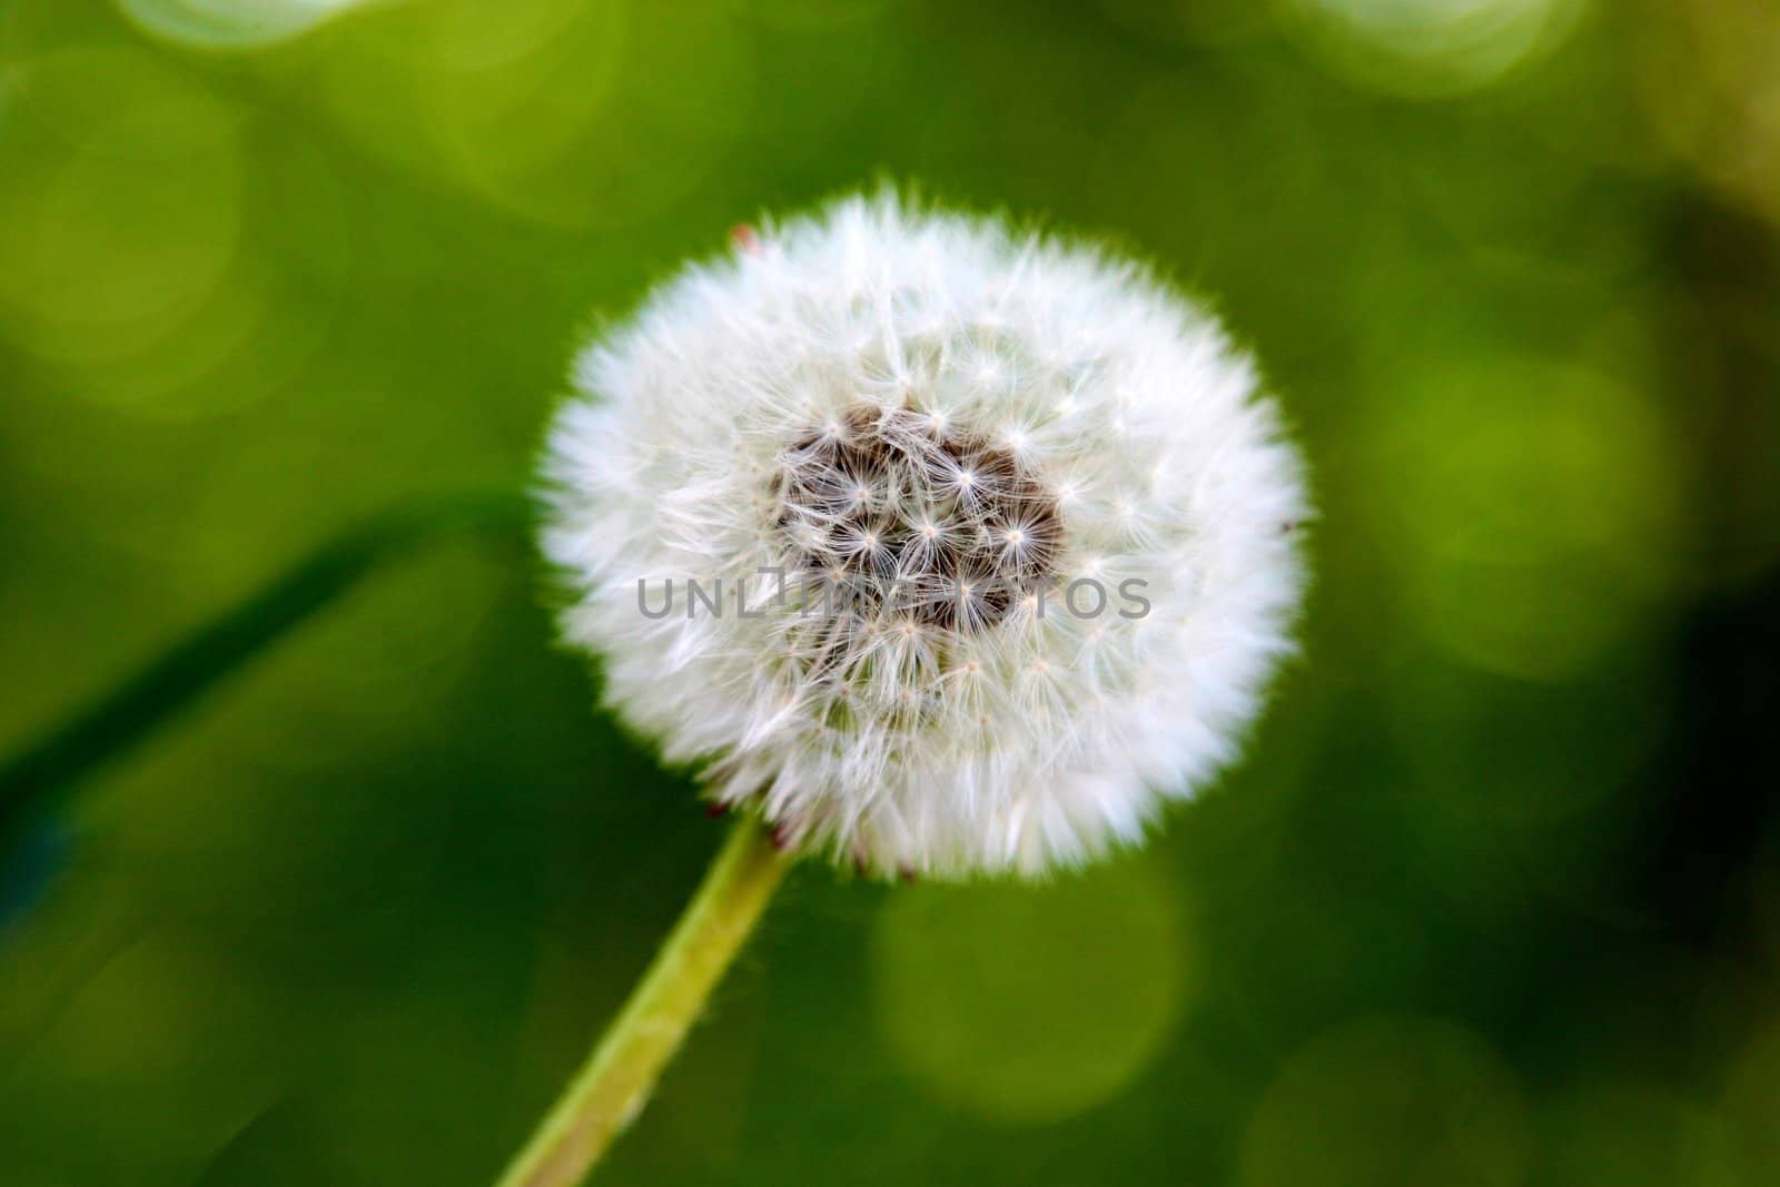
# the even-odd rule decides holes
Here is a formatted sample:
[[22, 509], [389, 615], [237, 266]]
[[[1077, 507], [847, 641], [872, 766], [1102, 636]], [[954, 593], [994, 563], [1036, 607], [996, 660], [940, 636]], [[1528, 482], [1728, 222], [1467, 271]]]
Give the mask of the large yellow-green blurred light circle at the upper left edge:
[[[14, 71], [0, 336], [71, 392], [153, 418], [263, 400], [345, 290], [347, 196], [313, 141], [141, 50]], [[103, 78], [105, 85], [94, 85]]]

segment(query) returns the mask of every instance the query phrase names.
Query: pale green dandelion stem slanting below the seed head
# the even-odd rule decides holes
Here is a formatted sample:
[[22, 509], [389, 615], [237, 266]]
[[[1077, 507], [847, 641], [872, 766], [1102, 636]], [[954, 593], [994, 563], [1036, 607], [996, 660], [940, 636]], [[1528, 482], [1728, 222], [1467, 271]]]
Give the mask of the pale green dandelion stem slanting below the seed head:
[[735, 822], [703, 884], [623, 1013], [498, 1187], [575, 1187], [648, 1102], [710, 991], [760, 920], [790, 858], [753, 815]]

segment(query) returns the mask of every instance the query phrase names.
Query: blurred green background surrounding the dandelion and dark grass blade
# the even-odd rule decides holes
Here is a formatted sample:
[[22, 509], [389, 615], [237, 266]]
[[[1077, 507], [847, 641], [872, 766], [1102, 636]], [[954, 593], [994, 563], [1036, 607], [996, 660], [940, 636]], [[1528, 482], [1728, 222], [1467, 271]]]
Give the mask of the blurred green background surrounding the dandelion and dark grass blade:
[[[1780, 1182], [1769, 0], [0, 0], [0, 755], [879, 178], [1218, 303], [1305, 657], [1141, 854], [803, 868], [600, 1182]], [[721, 831], [541, 584], [402, 557], [39, 826], [0, 1182], [493, 1176]]]

